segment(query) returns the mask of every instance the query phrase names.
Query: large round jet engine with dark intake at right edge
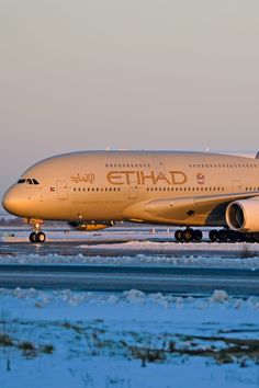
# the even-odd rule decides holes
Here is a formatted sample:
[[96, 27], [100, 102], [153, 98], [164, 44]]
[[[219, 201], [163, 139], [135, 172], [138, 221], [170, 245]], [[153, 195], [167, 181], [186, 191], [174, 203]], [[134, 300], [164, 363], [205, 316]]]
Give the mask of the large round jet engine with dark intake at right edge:
[[232, 202], [226, 208], [226, 222], [236, 231], [259, 232], [259, 197]]

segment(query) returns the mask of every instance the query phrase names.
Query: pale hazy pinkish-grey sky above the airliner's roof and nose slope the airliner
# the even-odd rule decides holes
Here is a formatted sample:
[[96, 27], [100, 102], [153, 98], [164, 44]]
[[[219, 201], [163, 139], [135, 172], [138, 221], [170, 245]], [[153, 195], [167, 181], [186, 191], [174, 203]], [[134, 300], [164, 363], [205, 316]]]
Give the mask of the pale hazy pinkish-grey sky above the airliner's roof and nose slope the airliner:
[[92, 149], [259, 150], [258, 0], [0, 0], [0, 196]]

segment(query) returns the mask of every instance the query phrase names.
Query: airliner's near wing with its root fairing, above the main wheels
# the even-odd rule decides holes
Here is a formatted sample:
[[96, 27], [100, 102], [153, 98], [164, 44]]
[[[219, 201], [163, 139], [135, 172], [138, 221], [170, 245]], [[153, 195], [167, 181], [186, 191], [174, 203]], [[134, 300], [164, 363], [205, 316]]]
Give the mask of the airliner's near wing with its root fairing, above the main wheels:
[[199, 225], [199, 219], [203, 219], [203, 222], [206, 219], [205, 225], [215, 225], [215, 220], [225, 220], [225, 209], [229, 203], [257, 196], [259, 198], [259, 192], [159, 198], [136, 203], [126, 208], [124, 216], [136, 221], [168, 221], [176, 225], [191, 224], [191, 219], [193, 225]]

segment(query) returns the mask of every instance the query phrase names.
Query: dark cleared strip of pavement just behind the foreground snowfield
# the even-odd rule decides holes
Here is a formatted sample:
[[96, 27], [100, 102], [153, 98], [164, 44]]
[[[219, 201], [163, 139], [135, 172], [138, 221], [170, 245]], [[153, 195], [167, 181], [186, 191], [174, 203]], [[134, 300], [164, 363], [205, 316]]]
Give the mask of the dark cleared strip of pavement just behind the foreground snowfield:
[[10, 264], [0, 265], [0, 287], [257, 296], [259, 270]]

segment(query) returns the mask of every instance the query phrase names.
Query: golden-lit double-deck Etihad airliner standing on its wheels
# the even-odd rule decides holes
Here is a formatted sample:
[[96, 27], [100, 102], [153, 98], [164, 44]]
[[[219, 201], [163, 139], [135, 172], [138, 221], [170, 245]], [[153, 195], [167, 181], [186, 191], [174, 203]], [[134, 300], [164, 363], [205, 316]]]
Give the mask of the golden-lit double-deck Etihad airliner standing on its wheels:
[[[32, 242], [44, 220], [88, 231], [115, 221], [184, 227], [177, 241], [259, 242], [259, 153], [255, 158], [181, 151], [82, 151], [27, 169], [4, 194], [3, 207], [25, 218]], [[193, 229], [192, 227], [198, 227]]]

